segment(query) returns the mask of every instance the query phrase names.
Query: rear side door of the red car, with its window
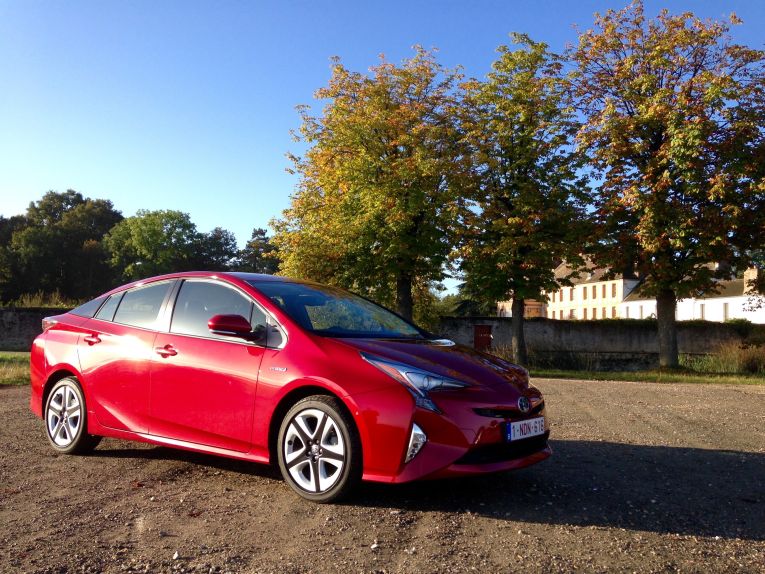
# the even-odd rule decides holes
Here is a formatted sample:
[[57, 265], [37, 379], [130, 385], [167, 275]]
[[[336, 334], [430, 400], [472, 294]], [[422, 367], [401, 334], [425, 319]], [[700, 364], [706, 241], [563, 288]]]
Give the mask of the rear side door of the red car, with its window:
[[161, 281], [114, 294], [82, 326], [77, 349], [88, 403], [104, 426], [148, 431], [155, 329], [173, 284]]

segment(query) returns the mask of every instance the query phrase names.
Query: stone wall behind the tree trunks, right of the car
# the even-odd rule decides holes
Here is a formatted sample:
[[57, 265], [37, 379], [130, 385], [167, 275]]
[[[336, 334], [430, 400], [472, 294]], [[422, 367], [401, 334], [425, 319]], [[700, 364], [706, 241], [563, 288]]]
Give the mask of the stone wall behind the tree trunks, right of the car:
[[[511, 342], [510, 317], [442, 317], [439, 334], [473, 346], [476, 325], [491, 326], [492, 349], [507, 349]], [[752, 325], [762, 331], [759, 325]], [[654, 321], [553, 321], [525, 322], [530, 359], [539, 365], [593, 370], [655, 368], [659, 343]], [[682, 354], [709, 354], [720, 345], [742, 342], [746, 334], [736, 325], [711, 322], [678, 323], [678, 348]]]

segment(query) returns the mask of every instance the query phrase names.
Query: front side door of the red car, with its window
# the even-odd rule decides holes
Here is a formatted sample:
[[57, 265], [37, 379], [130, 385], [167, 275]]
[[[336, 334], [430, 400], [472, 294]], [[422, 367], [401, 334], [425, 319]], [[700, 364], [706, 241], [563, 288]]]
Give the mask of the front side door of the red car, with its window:
[[213, 279], [184, 281], [170, 330], [154, 343], [149, 432], [246, 452], [264, 348], [210, 333], [213, 315], [242, 315], [265, 327], [265, 313], [239, 289]]

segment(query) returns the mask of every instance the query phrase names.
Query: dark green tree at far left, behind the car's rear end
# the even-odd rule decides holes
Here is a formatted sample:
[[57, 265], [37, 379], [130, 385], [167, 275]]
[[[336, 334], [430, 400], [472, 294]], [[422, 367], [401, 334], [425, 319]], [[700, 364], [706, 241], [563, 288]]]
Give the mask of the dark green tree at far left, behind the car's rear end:
[[16, 288], [6, 297], [39, 291], [83, 299], [109, 287], [112, 274], [101, 241], [121, 219], [111, 201], [73, 190], [49, 191], [31, 203], [11, 237]]

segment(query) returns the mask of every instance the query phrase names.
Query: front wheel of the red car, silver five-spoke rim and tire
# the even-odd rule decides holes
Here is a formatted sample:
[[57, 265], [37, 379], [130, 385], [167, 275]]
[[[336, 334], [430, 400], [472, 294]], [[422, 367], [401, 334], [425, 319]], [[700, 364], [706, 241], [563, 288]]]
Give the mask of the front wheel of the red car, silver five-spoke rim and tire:
[[284, 415], [277, 438], [284, 481], [303, 498], [334, 502], [361, 480], [361, 441], [356, 425], [332, 397], [306, 397]]

